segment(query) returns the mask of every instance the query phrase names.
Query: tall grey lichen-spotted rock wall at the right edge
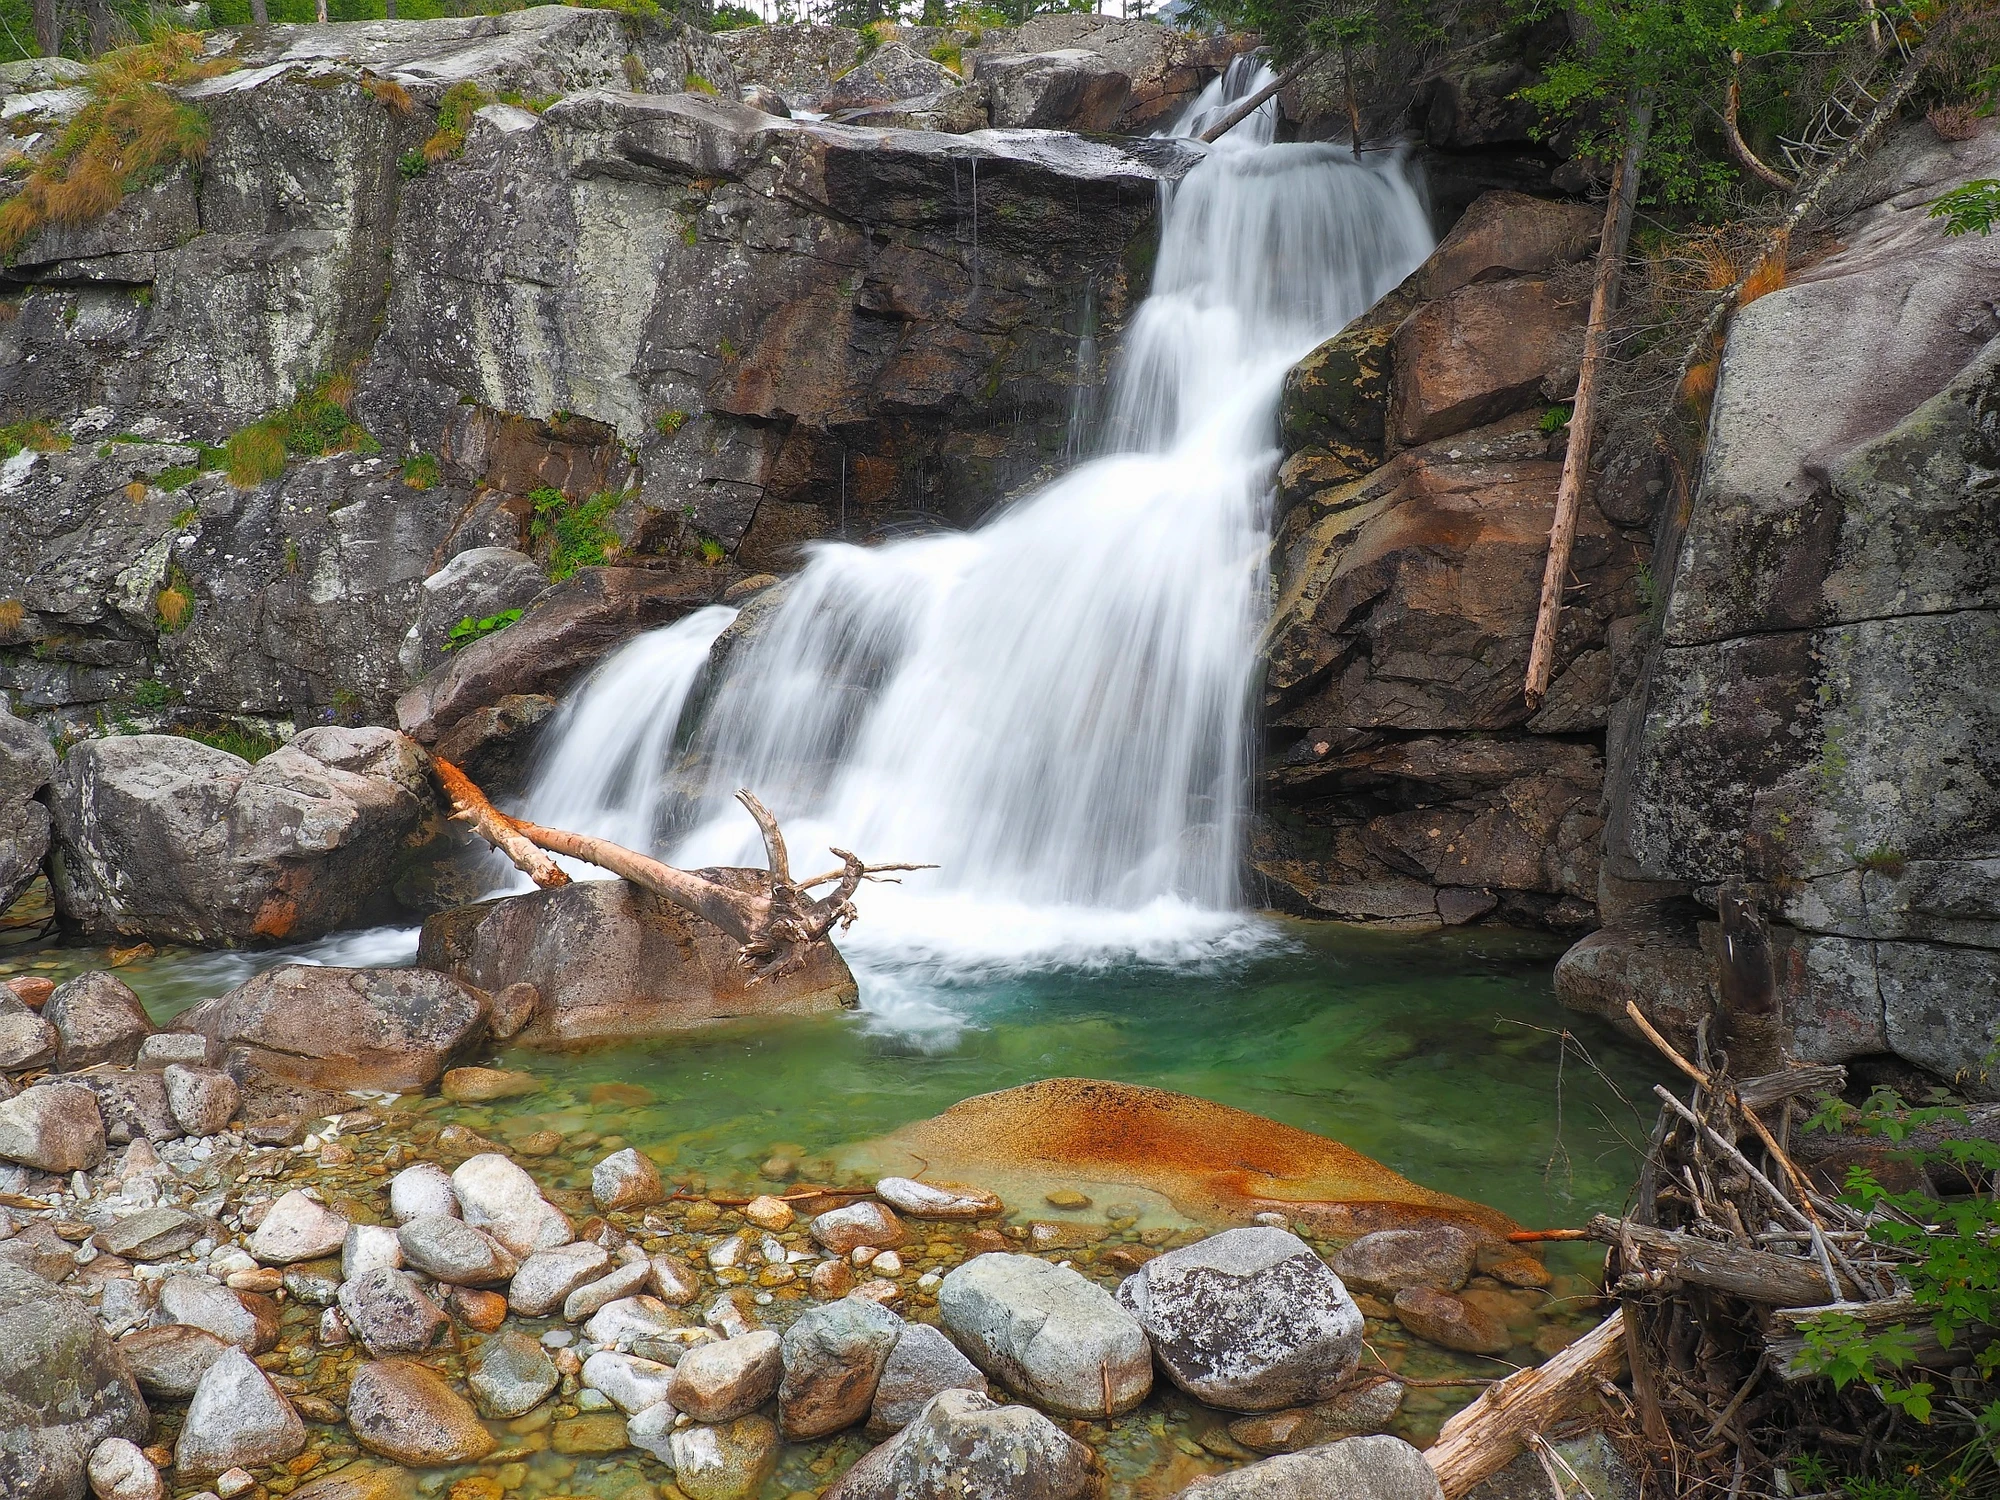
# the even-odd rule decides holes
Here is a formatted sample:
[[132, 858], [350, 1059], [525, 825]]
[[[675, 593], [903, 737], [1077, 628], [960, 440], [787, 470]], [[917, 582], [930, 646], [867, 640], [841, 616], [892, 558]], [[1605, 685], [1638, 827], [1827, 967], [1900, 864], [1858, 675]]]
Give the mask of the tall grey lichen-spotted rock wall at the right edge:
[[1556, 974], [1570, 1004], [1690, 1028], [1740, 880], [1800, 1056], [2000, 1094], [2000, 238], [1926, 216], [1996, 170], [2000, 132], [1912, 126], [1832, 254], [1738, 312], [1658, 638], [1610, 716], [1606, 926]]

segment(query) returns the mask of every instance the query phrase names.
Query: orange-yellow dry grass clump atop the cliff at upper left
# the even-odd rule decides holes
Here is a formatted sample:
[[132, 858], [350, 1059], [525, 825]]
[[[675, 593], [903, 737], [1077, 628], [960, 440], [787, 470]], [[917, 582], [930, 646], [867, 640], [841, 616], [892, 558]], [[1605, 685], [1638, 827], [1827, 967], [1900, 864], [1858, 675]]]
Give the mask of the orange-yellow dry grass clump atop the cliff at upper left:
[[194, 32], [162, 30], [152, 42], [106, 52], [90, 66], [90, 102], [0, 204], [0, 256], [44, 224], [88, 224], [132, 188], [208, 152], [208, 118], [166, 86], [234, 68], [202, 58]]

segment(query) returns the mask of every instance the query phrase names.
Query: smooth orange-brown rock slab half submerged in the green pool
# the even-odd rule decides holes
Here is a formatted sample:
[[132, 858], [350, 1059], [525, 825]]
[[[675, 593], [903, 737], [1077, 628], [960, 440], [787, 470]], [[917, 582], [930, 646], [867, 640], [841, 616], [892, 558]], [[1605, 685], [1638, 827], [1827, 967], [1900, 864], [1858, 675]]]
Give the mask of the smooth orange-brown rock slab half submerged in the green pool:
[[1502, 1214], [1390, 1172], [1340, 1142], [1226, 1104], [1098, 1078], [980, 1094], [846, 1152], [858, 1170], [978, 1182], [1014, 1204], [1052, 1186], [1150, 1196], [1204, 1224], [1284, 1212], [1324, 1234], [1452, 1220], [1482, 1236]]

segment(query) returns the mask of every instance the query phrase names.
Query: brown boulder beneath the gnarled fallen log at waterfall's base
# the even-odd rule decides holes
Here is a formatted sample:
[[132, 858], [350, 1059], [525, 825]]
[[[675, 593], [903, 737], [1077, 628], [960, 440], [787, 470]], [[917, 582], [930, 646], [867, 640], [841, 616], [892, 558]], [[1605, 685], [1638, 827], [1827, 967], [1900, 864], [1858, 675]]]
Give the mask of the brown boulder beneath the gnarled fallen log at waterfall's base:
[[[754, 870], [704, 870], [742, 888]], [[796, 972], [752, 982], [736, 940], [624, 880], [460, 906], [424, 922], [418, 964], [480, 990], [532, 984], [542, 996], [528, 1046], [642, 1040], [738, 1016], [794, 1016], [860, 1004], [846, 962], [820, 944]]]

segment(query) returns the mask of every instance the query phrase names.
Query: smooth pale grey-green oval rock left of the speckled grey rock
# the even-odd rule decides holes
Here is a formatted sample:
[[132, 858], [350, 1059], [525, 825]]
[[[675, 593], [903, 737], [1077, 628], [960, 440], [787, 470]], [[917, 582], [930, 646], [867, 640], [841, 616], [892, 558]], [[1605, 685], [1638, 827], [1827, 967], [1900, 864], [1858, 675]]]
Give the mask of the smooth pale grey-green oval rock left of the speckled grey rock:
[[1118, 1416], [1152, 1390], [1146, 1332], [1068, 1266], [976, 1256], [938, 1286], [938, 1316], [988, 1376], [1060, 1416]]

